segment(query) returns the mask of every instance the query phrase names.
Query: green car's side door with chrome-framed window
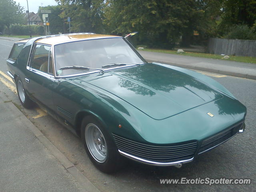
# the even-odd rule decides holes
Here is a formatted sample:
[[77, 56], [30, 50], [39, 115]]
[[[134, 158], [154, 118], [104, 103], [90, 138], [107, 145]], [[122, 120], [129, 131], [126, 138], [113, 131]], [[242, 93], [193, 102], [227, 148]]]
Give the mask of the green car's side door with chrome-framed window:
[[38, 104], [54, 114], [52, 90], [55, 78], [52, 66], [52, 47], [35, 44], [25, 72], [28, 95]]

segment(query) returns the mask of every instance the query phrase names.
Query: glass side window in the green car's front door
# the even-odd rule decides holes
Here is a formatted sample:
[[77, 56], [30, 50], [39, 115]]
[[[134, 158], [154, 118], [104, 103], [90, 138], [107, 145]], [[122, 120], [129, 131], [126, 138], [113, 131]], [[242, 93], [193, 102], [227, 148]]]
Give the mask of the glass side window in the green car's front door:
[[50, 46], [36, 44], [30, 62], [30, 67], [48, 73], [50, 50]]

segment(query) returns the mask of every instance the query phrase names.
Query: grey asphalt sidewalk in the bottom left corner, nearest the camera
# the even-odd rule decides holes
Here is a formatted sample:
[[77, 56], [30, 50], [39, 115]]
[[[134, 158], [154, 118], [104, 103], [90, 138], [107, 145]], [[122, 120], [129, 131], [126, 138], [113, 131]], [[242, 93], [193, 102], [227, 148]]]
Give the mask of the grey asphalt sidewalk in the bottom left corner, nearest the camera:
[[0, 191], [98, 192], [0, 92]]

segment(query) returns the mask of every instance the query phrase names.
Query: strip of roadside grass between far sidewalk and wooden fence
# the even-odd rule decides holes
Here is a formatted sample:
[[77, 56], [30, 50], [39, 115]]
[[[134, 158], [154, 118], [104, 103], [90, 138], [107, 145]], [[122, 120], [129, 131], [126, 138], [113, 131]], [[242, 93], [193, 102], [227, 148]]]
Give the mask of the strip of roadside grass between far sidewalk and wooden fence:
[[[152, 49], [152, 48], [144, 48], [140, 51], [150, 51], [150, 52], [159, 52], [159, 53], [168, 53], [168, 54], [176, 54], [181, 55], [180, 53], [177, 53], [176, 50], [166, 50], [166, 49]], [[184, 52], [182, 55], [186, 56], [192, 56], [192, 57], [204, 57], [204, 58], [212, 58], [212, 59], [222, 59], [222, 55], [215, 55], [215, 54], [209, 54], [209, 53], [196, 53], [196, 52]], [[245, 62], [245, 63], [256, 63], [256, 57], [246, 57], [246, 56], [232, 56], [229, 55], [230, 58], [227, 60], [230, 61], [238, 61], [238, 62]]]

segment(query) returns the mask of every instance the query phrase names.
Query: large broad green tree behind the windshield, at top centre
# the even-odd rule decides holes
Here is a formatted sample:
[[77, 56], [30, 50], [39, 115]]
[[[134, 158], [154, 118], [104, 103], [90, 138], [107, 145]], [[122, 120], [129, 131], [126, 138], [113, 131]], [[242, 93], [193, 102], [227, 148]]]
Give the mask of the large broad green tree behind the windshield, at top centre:
[[216, 13], [209, 8], [215, 11], [220, 3], [212, 1], [106, 0], [104, 24], [110, 33], [138, 31], [140, 42], [150, 46], [172, 48], [181, 36], [189, 45], [194, 30], [205, 32], [213, 24]]

